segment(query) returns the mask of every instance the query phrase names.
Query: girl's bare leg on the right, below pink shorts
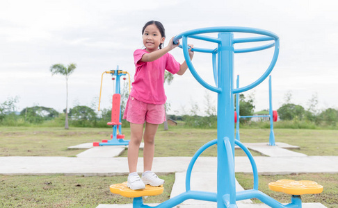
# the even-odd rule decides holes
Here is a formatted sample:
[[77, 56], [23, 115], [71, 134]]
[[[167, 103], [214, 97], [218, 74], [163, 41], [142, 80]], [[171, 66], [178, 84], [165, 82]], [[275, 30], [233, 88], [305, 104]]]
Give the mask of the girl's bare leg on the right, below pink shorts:
[[145, 123], [145, 133], [143, 135], [143, 140], [145, 147], [143, 149], [143, 171], [152, 170], [152, 161], [154, 159], [154, 150], [155, 150], [155, 134], [159, 124]]

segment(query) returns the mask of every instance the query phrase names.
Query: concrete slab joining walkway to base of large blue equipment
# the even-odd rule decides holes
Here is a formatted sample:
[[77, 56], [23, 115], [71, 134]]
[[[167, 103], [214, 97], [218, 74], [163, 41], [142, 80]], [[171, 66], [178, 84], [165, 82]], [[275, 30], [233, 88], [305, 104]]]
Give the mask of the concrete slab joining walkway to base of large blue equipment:
[[[170, 198], [178, 196], [186, 191], [186, 173], [175, 173], [175, 183], [172, 186]], [[217, 173], [191, 173], [191, 190], [217, 192]], [[236, 191], [244, 191], [236, 180]], [[252, 200], [241, 200], [238, 203], [252, 204]], [[186, 200], [182, 205], [215, 205], [215, 202]]]

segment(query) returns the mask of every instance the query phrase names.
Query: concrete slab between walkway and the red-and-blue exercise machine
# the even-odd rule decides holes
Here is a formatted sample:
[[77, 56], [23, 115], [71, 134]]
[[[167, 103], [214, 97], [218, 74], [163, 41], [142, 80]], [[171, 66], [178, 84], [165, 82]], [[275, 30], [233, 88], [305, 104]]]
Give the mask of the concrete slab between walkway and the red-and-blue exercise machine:
[[125, 146], [95, 146], [82, 153], [77, 157], [118, 157], [125, 150]]

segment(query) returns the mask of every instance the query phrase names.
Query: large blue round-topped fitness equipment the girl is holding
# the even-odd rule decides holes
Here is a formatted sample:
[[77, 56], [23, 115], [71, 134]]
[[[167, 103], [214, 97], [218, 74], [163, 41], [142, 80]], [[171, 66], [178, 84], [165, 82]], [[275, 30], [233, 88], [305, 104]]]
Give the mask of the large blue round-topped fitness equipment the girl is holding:
[[[200, 35], [202, 33], [218, 33], [218, 37], [209, 37], [205, 35]], [[260, 35], [259, 37], [246, 37], [246, 38], [234, 38], [233, 33], [253, 33]], [[216, 49], [198, 49], [194, 48], [193, 51], [202, 52], [202, 53], [211, 53], [213, 58], [213, 68], [214, 68], [214, 79], [216, 87], [206, 83], [198, 73], [195, 71], [195, 67], [191, 63], [188, 52], [188, 37], [206, 40], [209, 42], [214, 42], [218, 44]], [[269, 73], [271, 73], [275, 62], [277, 61], [277, 56], [280, 48], [279, 37], [274, 33], [269, 31], [264, 31], [256, 28], [243, 28], [243, 27], [215, 27], [215, 28], [200, 28], [192, 31], [186, 31], [177, 35], [174, 38], [174, 42], [177, 43], [179, 39], [182, 38], [182, 49], [184, 53], [184, 58], [188, 67], [198, 82], [205, 88], [216, 92], [218, 94], [218, 107], [217, 107], [217, 139], [209, 141], [207, 144], [204, 144], [193, 156], [191, 162], [188, 166], [186, 173], [186, 192], [181, 193], [179, 196], [170, 198], [166, 202], [161, 203], [155, 207], [175, 207], [184, 200], [195, 199], [195, 200], [207, 200], [211, 202], [217, 202], [218, 208], [224, 207], [237, 207], [237, 200], [246, 200], [250, 198], [258, 198], [261, 202], [264, 202], [266, 205], [271, 207], [301, 207], [300, 194], [305, 193], [305, 191], [289, 192], [292, 194], [291, 203], [289, 205], [282, 205], [277, 200], [267, 196], [266, 194], [258, 191], [258, 173], [255, 160], [253, 159], [250, 151], [246, 146], [241, 144], [240, 141], [234, 139], [234, 94], [245, 92], [253, 87], [256, 87], [261, 83]], [[264, 46], [257, 46], [250, 49], [234, 49], [234, 44], [243, 43], [243, 42], [261, 42], [261, 41], [273, 41], [272, 43], [266, 44]], [[233, 79], [233, 65], [234, 65], [234, 53], [246, 53], [252, 51], [260, 51], [268, 49], [275, 46], [275, 51], [271, 64], [264, 74], [258, 78], [255, 82], [247, 85], [246, 87], [234, 89], [234, 79]], [[216, 63], [216, 59], [218, 62]], [[191, 190], [191, 171], [193, 165], [195, 164], [196, 159], [202, 154], [204, 150], [217, 144], [217, 192], [211, 193], [206, 191], [192, 191]], [[239, 146], [244, 150], [246, 155], [250, 159], [252, 166], [254, 184], [253, 189], [246, 191], [236, 192], [235, 187], [235, 175], [234, 175], [234, 145]], [[113, 184], [111, 186], [111, 192], [121, 194], [122, 189], [115, 189], [114, 187], [119, 184]], [[112, 189], [113, 187], [113, 189]], [[303, 187], [294, 188], [296, 190], [304, 190]], [[116, 191], [118, 190], [118, 191]], [[282, 188], [277, 190], [283, 190]], [[316, 189], [316, 191], [320, 191]], [[134, 190], [124, 189], [124, 196], [133, 197], [133, 207], [150, 207], [148, 205], [143, 205], [142, 193], [143, 191], [138, 191], [138, 195], [132, 195], [131, 193]], [[310, 191], [311, 192], [311, 191]], [[317, 193], [318, 193], [317, 192]], [[306, 192], [308, 193], [308, 192]]]

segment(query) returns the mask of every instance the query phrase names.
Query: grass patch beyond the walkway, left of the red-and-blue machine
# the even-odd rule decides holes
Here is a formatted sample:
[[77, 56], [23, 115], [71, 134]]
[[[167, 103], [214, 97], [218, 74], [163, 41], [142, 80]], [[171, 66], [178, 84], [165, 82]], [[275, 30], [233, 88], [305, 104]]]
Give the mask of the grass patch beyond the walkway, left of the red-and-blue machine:
[[67, 147], [110, 138], [110, 131], [109, 128], [0, 127], [0, 156], [74, 157], [83, 149]]

